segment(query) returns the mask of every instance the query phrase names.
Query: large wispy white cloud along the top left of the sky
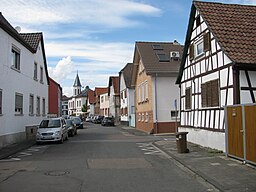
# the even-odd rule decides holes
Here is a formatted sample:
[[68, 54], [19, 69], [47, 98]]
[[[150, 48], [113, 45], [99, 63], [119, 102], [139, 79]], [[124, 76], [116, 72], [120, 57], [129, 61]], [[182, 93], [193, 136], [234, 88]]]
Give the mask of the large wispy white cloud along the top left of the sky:
[[129, 0], [4, 0], [1, 11], [23, 25], [82, 22], [110, 28], [140, 24], [129, 16], [161, 13], [156, 7]]

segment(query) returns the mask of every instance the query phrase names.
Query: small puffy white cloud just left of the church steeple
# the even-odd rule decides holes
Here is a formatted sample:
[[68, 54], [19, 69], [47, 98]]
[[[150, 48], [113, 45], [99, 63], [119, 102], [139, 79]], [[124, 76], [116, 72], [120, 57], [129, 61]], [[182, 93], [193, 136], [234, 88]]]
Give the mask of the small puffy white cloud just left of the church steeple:
[[74, 63], [72, 62], [71, 57], [64, 57], [57, 63], [56, 67], [48, 67], [49, 75], [60, 83], [72, 72], [73, 66]]

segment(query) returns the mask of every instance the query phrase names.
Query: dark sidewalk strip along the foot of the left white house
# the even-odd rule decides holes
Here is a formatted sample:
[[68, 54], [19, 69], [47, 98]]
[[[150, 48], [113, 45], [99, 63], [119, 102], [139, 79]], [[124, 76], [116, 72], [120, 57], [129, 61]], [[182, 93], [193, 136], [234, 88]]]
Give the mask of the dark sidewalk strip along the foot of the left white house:
[[0, 148], [0, 159], [7, 158], [19, 151], [27, 149], [35, 144], [35, 141], [23, 141], [20, 143], [14, 143], [6, 147]]

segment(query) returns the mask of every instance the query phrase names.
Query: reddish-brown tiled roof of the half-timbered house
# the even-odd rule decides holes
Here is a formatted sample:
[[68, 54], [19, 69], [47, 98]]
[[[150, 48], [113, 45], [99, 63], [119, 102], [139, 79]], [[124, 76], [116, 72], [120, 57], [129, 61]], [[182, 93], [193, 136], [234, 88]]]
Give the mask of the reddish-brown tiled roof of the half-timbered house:
[[197, 1], [194, 5], [232, 61], [256, 64], [256, 6]]

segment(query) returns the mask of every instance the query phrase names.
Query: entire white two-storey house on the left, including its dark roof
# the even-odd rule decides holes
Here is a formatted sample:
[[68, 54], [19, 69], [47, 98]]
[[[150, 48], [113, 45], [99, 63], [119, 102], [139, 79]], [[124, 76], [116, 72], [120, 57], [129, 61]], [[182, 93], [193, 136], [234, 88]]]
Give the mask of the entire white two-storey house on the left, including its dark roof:
[[0, 13], [0, 147], [26, 139], [48, 113], [42, 33], [18, 33]]

